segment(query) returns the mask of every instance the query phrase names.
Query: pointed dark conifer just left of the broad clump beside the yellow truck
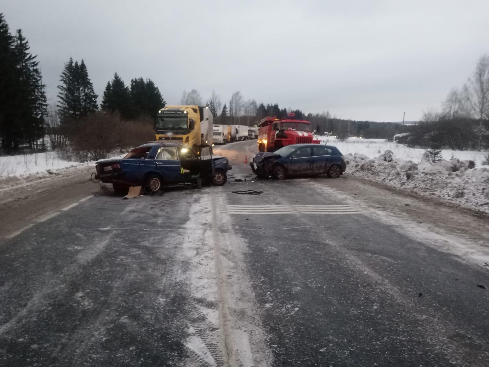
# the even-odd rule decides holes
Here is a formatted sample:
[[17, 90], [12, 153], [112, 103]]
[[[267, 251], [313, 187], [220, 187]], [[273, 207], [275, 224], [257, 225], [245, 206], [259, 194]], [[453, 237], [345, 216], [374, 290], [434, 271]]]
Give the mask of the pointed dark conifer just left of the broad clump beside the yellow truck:
[[126, 120], [134, 117], [131, 92], [117, 73], [114, 73], [112, 82], [107, 84], [101, 107], [109, 112], [118, 111]]

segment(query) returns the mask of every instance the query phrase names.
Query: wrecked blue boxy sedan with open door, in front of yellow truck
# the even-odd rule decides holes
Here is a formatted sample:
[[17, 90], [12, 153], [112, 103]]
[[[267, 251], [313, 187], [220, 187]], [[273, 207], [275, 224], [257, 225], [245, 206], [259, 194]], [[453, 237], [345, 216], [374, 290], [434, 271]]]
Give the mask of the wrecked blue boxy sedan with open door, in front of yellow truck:
[[112, 184], [116, 194], [126, 195], [130, 186], [158, 191], [163, 186], [210, 181], [222, 186], [232, 167], [225, 157], [213, 157], [210, 146], [196, 152], [175, 142], [150, 142], [133, 148], [122, 159], [97, 161], [95, 178]]

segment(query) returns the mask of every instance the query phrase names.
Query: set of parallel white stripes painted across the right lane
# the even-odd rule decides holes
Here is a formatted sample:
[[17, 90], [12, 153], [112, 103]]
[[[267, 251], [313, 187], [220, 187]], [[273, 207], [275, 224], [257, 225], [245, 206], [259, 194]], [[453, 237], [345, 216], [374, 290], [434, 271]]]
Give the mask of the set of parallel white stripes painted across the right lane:
[[228, 205], [229, 214], [361, 214], [350, 205]]

